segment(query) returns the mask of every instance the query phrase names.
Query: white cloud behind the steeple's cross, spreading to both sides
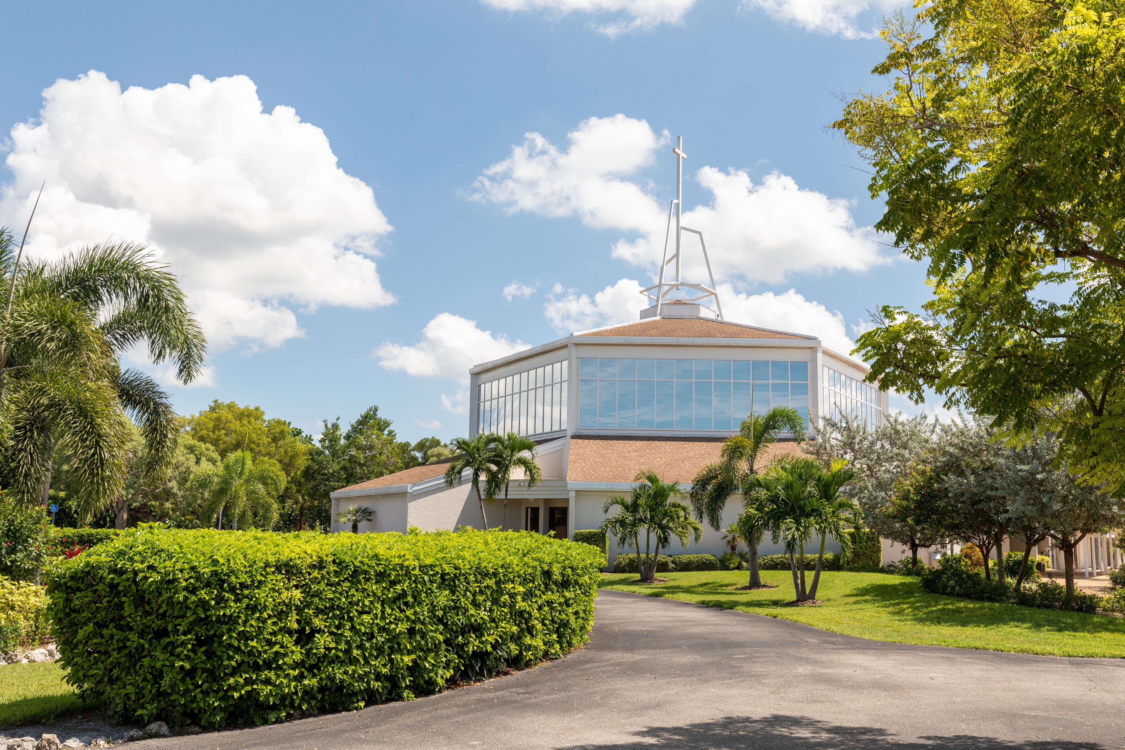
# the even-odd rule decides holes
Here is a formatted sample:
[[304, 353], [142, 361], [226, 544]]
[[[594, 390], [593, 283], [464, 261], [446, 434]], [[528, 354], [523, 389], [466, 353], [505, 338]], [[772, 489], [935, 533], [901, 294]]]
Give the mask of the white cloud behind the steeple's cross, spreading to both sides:
[[[668, 208], [636, 174], [667, 145], [667, 133], [615, 115], [584, 120], [568, 139], [564, 150], [526, 134], [507, 159], [477, 178], [470, 197], [513, 214], [574, 217], [593, 228], [629, 233], [613, 255], [655, 275]], [[738, 170], [702, 166], [694, 174], [711, 201], [685, 210], [683, 226], [703, 232], [717, 281], [778, 283], [791, 273], [863, 271], [886, 262], [874, 231], [856, 226], [847, 200], [802, 189], [780, 172], [758, 184]], [[685, 233], [682, 245], [685, 280], [706, 281], [699, 240]]]

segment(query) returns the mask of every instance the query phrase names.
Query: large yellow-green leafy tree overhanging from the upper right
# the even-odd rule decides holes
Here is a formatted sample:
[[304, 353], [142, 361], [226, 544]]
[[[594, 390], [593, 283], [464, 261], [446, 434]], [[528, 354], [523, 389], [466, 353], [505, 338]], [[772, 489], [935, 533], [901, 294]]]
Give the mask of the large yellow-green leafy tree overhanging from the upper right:
[[[870, 380], [1050, 427], [1092, 484], [1125, 480], [1122, 2], [936, 0], [835, 127], [871, 163], [876, 228], [927, 263], [920, 314], [858, 338]], [[1065, 298], [1065, 301], [1059, 301]], [[1044, 407], [1052, 407], [1045, 409]]]

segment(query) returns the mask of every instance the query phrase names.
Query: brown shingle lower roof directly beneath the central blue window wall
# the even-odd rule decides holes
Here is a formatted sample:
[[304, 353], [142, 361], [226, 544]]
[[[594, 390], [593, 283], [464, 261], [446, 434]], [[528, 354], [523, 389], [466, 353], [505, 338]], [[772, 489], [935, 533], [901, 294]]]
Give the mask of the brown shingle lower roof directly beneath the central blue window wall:
[[[566, 478], [569, 481], [633, 481], [652, 469], [664, 481], [691, 482], [708, 463], [719, 460], [722, 437], [574, 435]], [[803, 455], [794, 442], [766, 446], [758, 466], [782, 453]]]

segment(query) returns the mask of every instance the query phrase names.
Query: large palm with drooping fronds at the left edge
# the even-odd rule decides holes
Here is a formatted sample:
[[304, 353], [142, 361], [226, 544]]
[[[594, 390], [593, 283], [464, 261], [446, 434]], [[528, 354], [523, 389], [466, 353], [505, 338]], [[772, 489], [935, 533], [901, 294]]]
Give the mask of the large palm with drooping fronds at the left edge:
[[[20, 251], [21, 253], [21, 251]], [[94, 245], [54, 263], [26, 262], [0, 229], [0, 425], [7, 484], [21, 501], [40, 501], [56, 450], [70, 454], [88, 518], [124, 497], [128, 417], [146, 448], [146, 480], [159, 480], [176, 450], [174, 412], [148, 376], [118, 358], [146, 346], [189, 382], [204, 368], [206, 342], [166, 265], [129, 243]]]

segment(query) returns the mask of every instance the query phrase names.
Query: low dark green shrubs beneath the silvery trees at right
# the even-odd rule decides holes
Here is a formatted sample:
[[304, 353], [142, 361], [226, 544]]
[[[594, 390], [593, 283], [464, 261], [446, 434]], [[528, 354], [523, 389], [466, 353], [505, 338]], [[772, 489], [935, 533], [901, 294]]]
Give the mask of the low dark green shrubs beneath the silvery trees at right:
[[933, 594], [958, 596], [984, 602], [1008, 602], [1040, 609], [1063, 609], [1094, 614], [1102, 606], [1101, 597], [1086, 591], [1074, 591], [1066, 596], [1066, 588], [1054, 581], [1040, 581], [1034, 586], [1016, 590], [1015, 578], [1005, 581], [987, 581], [984, 576], [969, 567], [961, 554], [946, 554], [937, 568], [921, 575], [921, 587]]

